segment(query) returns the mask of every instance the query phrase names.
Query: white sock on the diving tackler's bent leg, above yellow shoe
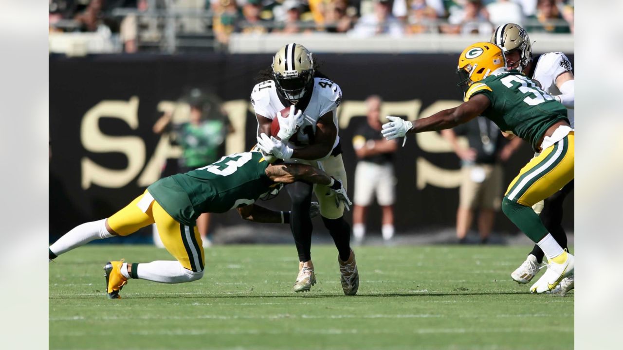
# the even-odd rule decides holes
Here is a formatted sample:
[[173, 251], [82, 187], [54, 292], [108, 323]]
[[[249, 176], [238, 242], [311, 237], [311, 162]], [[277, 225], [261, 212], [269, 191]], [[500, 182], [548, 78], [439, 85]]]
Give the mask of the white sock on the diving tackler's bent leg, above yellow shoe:
[[160, 283], [184, 283], [199, 280], [203, 271], [192, 272], [184, 268], [178, 261], [158, 260], [150, 263], [139, 263], [136, 275], [141, 280]]

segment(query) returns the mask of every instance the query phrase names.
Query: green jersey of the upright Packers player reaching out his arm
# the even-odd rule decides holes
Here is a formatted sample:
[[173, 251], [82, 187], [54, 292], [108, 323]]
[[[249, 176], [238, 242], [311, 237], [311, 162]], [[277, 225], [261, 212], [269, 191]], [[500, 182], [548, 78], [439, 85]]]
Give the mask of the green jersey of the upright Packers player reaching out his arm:
[[541, 90], [534, 80], [517, 70], [499, 69], [475, 82], [465, 92], [467, 102], [478, 93], [491, 102], [482, 115], [492, 120], [505, 133], [528, 141], [535, 151], [549, 126], [567, 118], [567, 108]]

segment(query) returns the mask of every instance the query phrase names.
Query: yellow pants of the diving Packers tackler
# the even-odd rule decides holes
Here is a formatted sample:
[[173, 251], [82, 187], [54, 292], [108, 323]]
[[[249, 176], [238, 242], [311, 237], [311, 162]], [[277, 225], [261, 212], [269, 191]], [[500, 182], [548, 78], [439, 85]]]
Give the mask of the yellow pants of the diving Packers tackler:
[[203, 271], [206, 260], [197, 226], [184, 225], [173, 219], [148, 191], [108, 218], [108, 226], [122, 236], [154, 223], [164, 247], [184, 268]]

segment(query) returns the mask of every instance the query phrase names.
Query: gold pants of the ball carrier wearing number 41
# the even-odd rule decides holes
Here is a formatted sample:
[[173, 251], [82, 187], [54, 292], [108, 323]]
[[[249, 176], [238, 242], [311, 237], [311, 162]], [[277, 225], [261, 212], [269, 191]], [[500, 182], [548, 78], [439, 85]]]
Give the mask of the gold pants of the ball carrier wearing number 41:
[[[287, 163], [301, 163], [309, 164], [315, 168], [325, 171], [329, 176], [333, 176], [342, 182], [344, 189], [348, 189], [348, 182], [346, 181], [346, 169], [344, 168], [344, 161], [342, 155], [329, 156], [329, 158], [321, 161], [303, 161], [300, 159], [290, 159]], [[320, 204], [320, 215], [327, 219], [338, 219], [344, 215], [344, 204], [340, 202], [340, 206], [335, 204], [335, 194], [329, 189], [329, 187], [315, 184], [314, 193], [318, 198], [318, 204]]]

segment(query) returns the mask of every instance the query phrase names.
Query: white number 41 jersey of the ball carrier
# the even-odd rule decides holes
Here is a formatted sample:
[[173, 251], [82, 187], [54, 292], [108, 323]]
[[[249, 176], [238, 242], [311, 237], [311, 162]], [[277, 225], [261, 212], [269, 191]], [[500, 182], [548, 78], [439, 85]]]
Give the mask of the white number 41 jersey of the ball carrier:
[[[318, 123], [318, 119], [326, 113], [332, 112], [333, 123], [338, 130], [338, 135], [333, 143], [333, 148], [335, 148], [338, 143], [340, 143], [340, 128], [338, 126], [338, 113], [336, 109], [341, 102], [342, 90], [338, 84], [325, 78], [314, 78], [312, 97], [307, 107], [305, 107], [305, 110], [303, 110], [305, 121], [303, 121], [303, 125], [298, 129], [296, 137], [293, 137], [296, 141], [288, 141], [288, 146], [296, 149], [309, 145], [310, 138], [316, 135], [316, 123]], [[280, 113], [281, 110], [290, 106], [283, 105], [281, 102], [273, 80], [266, 80], [255, 85], [253, 92], [251, 92], [251, 104], [253, 105], [255, 114], [264, 116], [270, 120], [276, 118], [277, 113]]]

